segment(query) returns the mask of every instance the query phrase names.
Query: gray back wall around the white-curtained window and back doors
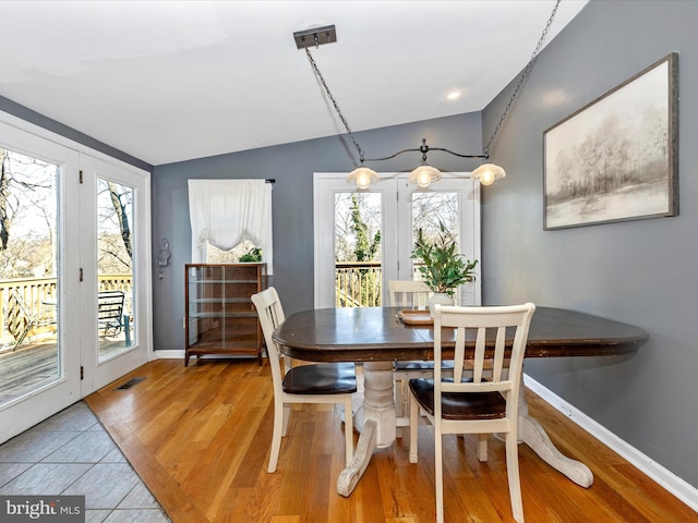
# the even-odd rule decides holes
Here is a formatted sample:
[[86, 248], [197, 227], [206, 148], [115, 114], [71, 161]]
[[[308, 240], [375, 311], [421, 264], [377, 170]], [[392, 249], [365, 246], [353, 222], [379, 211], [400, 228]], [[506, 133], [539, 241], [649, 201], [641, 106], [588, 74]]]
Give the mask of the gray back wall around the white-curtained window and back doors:
[[[332, 118], [330, 114], [327, 118]], [[419, 147], [422, 137], [434, 147], [462, 154], [481, 153], [480, 113], [396, 125], [356, 133], [368, 158]], [[234, 138], [231, 137], [231, 142]], [[349, 149], [349, 150], [347, 150]], [[351, 155], [350, 155], [351, 154]], [[286, 314], [313, 307], [313, 172], [349, 172], [356, 150], [338, 136], [266, 147], [197, 160], [157, 166], [153, 173], [153, 250], [166, 238], [172, 254], [159, 279], [154, 266], [154, 338], [156, 350], [184, 348], [184, 264], [191, 262], [189, 179], [275, 179], [274, 278]], [[378, 171], [411, 170], [421, 160], [408, 153], [380, 163]], [[479, 160], [434, 151], [430, 160], [444, 170], [471, 170]]]

